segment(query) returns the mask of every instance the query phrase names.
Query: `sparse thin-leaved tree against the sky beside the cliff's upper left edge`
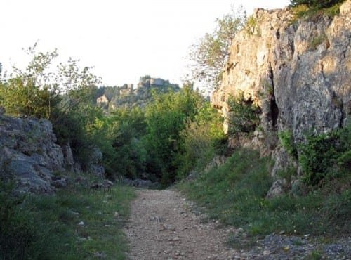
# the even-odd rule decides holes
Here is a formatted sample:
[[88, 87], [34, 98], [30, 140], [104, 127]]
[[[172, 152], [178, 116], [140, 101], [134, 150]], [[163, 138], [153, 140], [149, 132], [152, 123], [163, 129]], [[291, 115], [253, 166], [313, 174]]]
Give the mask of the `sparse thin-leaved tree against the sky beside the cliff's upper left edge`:
[[239, 10], [216, 19], [216, 29], [206, 33], [190, 51], [191, 77], [213, 89], [220, 84], [224, 65], [229, 57], [230, 44], [235, 34], [244, 26], [246, 12]]

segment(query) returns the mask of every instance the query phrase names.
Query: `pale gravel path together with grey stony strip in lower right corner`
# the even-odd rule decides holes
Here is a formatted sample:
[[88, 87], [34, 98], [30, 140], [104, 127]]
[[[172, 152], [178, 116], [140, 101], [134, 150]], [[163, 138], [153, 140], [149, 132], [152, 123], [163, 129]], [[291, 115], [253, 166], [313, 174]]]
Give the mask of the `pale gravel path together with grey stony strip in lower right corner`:
[[351, 260], [351, 237], [320, 244], [310, 235], [266, 235], [246, 249], [230, 249], [228, 235], [246, 240], [242, 228], [204, 222], [204, 214], [177, 190], [138, 190], [131, 208], [128, 235], [129, 259], [347, 259]]

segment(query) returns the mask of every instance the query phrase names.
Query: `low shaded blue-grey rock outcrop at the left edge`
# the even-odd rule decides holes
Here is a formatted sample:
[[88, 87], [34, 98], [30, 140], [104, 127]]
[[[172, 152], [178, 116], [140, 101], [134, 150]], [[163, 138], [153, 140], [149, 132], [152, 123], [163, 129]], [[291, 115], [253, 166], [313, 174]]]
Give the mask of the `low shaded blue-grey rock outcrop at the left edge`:
[[15, 181], [22, 192], [52, 193], [53, 171], [65, 165], [55, 142], [48, 120], [0, 115], [0, 177]]

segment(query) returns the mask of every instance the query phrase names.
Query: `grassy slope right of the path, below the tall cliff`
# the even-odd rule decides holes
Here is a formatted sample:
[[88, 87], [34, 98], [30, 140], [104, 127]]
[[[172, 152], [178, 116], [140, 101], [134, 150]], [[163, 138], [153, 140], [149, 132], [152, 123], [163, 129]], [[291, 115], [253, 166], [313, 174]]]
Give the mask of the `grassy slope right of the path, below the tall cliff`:
[[244, 228], [249, 238], [282, 230], [296, 235], [350, 232], [350, 188], [341, 193], [314, 190], [304, 197], [285, 195], [268, 200], [265, 195], [272, 184], [269, 168], [269, 160], [257, 152], [240, 150], [223, 166], [178, 187], [204, 207], [210, 218]]

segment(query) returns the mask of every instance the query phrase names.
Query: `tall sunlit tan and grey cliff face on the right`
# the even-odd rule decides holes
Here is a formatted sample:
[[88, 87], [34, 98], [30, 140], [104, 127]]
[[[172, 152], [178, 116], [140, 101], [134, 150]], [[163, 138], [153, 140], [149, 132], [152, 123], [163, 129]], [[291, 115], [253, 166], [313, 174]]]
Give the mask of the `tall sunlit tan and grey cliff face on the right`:
[[337, 129], [351, 115], [350, 13], [351, 0], [334, 18], [308, 21], [293, 22], [288, 8], [257, 9], [232, 42], [211, 103], [227, 117], [227, 98], [243, 91], [260, 106], [261, 133], [256, 131], [252, 144], [279, 159], [274, 173], [290, 159], [277, 138], [267, 145], [270, 136], [288, 130], [299, 143], [306, 131]]

